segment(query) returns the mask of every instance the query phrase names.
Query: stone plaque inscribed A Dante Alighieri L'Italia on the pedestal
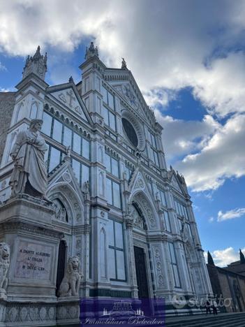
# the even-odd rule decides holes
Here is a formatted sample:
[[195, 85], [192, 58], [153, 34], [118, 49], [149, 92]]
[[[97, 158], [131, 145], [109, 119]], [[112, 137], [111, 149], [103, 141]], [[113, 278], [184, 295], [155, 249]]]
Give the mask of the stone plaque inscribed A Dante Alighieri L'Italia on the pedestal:
[[15, 277], [50, 279], [52, 254], [50, 246], [20, 241], [17, 249]]

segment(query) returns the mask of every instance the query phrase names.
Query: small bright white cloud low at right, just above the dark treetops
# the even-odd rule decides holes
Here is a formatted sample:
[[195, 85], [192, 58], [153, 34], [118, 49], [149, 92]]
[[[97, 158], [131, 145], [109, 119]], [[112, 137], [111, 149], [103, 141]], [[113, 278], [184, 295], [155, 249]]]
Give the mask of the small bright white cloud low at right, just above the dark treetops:
[[[242, 252], [245, 254], [245, 248], [242, 249]], [[228, 266], [228, 264], [239, 260], [239, 252], [236, 252], [233, 247], [215, 250], [211, 252], [211, 256], [214, 259], [214, 264], [219, 267]], [[207, 261], [207, 252], [205, 252], [205, 259]]]

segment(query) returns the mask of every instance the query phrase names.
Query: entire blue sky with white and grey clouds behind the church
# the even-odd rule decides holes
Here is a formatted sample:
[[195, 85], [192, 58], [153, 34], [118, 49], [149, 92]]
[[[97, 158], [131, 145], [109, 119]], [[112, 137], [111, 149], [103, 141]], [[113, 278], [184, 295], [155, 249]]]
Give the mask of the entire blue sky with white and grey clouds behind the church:
[[37, 45], [50, 85], [79, 81], [91, 40], [107, 66], [125, 57], [186, 177], [202, 246], [224, 266], [245, 248], [244, 15], [239, 0], [3, 0], [0, 89], [14, 90]]

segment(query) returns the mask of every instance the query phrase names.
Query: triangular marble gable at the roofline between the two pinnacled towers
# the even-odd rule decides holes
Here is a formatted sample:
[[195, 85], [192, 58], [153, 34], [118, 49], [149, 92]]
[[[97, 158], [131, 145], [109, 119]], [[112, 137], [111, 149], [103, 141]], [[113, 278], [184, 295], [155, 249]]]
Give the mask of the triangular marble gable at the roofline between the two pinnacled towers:
[[55, 85], [47, 88], [47, 93], [53, 96], [61, 106], [72, 111], [75, 115], [84, 119], [85, 122], [93, 124], [89, 112], [82, 101], [74, 82], [68, 82], [62, 85]]

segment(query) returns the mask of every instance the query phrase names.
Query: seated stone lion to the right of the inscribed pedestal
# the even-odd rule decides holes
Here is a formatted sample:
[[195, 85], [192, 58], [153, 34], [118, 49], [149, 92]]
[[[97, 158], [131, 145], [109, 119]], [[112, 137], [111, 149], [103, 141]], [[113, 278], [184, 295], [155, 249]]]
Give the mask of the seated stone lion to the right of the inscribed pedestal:
[[81, 277], [79, 258], [77, 256], [70, 256], [64, 278], [62, 279], [61, 286], [59, 286], [58, 296], [78, 296]]

